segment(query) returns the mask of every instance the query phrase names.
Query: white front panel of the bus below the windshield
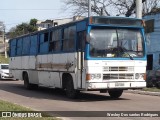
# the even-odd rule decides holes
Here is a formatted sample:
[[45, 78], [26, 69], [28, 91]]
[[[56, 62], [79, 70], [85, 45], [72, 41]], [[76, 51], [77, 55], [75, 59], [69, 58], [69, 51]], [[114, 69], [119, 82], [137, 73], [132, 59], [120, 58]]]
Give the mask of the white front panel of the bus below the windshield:
[[87, 60], [85, 61], [86, 73], [91, 75], [100, 74], [101, 78], [92, 78], [87, 81], [86, 89], [111, 89], [115, 84], [122, 83], [117, 88], [134, 89], [146, 86], [144, 75], [146, 61], [133, 60]]

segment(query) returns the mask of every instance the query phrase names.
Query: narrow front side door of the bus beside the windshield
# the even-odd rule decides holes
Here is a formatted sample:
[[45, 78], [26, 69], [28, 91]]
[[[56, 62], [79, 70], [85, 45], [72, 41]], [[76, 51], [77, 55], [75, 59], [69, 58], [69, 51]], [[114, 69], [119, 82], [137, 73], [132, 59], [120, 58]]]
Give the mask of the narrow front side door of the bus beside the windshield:
[[86, 31], [78, 32], [77, 35], [77, 79], [78, 79], [78, 88], [85, 88], [85, 79], [84, 79], [84, 51], [85, 51], [85, 41], [86, 41]]

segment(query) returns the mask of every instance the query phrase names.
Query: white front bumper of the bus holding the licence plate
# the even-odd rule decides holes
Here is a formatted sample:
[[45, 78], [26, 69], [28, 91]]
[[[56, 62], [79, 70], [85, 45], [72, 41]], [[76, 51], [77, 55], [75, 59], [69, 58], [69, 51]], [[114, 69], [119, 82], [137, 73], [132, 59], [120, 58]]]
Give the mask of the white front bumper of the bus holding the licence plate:
[[87, 82], [87, 90], [99, 90], [99, 89], [140, 89], [145, 88], [145, 81], [134, 81], [134, 82]]

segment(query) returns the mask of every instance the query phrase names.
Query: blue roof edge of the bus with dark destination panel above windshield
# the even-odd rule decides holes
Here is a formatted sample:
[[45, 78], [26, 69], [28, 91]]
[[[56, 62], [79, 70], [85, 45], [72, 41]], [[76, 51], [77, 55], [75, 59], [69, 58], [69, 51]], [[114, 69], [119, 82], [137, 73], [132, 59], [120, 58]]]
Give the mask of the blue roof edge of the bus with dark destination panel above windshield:
[[[129, 17], [110, 17], [110, 16], [91, 16], [91, 17], [86, 17], [84, 19], [81, 20], [77, 20], [77, 21], [72, 21], [66, 24], [62, 24], [59, 26], [54, 26], [48, 29], [44, 29], [41, 31], [35, 31], [29, 34], [25, 34], [25, 35], [21, 35], [15, 38], [20, 38], [20, 37], [24, 37], [24, 36], [28, 36], [28, 35], [33, 35], [39, 32], [45, 32], [47, 30], [52, 30], [52, 29], [57, 29], [57, 28], [61, 28], [61, 27], [65, 27], [65, 26], [70, 26], [82, 21], [86, 21], [87, 25], [99, 25], [99, 26], [125, 26], [125, 27], [143, 27], [143, 21], [142, 19], [136, 19], [136, 18], [129, 18]], [[12, 38], [12, 39], [15, 39]]]

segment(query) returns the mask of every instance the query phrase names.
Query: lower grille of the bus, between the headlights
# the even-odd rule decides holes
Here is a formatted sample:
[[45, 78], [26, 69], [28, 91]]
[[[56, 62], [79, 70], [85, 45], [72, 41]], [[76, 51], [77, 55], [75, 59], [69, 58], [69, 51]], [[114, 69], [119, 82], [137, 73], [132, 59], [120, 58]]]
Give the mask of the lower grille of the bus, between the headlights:
[[103, 74], [103, 80], [134, 79], [134, 74]]

